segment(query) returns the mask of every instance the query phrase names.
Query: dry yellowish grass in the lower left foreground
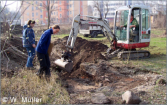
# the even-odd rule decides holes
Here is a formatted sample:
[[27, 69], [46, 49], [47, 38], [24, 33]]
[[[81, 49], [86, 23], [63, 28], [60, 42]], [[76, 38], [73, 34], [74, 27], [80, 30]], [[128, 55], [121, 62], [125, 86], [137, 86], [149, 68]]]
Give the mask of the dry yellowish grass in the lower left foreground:
[[[68, 92], [61, 87], [61, 82], [57, 78], [56, 73], [52, 73], [50, 83], [47, 83], [32, 71], [23, 69], [12, 78], [1, 79], [1, 96], [17, 98], [14, 104], [69, 104]], [[41, 103], [24, 103], [22, 97], [41, 98]], [[2, 104], [12, 104], [12, 102], [2, 102]]]

